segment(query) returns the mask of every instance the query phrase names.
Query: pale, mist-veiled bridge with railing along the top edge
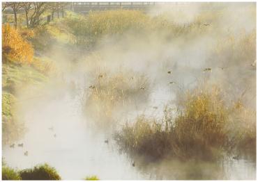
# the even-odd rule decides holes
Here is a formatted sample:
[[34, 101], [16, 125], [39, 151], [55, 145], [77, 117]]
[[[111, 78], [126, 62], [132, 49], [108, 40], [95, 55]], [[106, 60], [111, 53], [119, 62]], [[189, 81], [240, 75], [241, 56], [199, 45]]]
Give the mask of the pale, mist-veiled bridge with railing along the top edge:
[[148, 10], [155, 2], [71, 2], [67, 7], [76, 13], [89, 13], [90, 10]]

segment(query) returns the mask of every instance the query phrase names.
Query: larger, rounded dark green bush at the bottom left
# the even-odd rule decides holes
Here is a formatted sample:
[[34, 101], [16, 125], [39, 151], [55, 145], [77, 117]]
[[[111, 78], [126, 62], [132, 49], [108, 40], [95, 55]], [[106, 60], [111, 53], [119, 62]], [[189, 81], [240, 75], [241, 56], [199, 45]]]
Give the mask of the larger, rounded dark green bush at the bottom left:
[[47, 164], [37, 165], [33, 169], [24, 169], [20, 171], [22, 180], [61, 180], [56, 169]]

